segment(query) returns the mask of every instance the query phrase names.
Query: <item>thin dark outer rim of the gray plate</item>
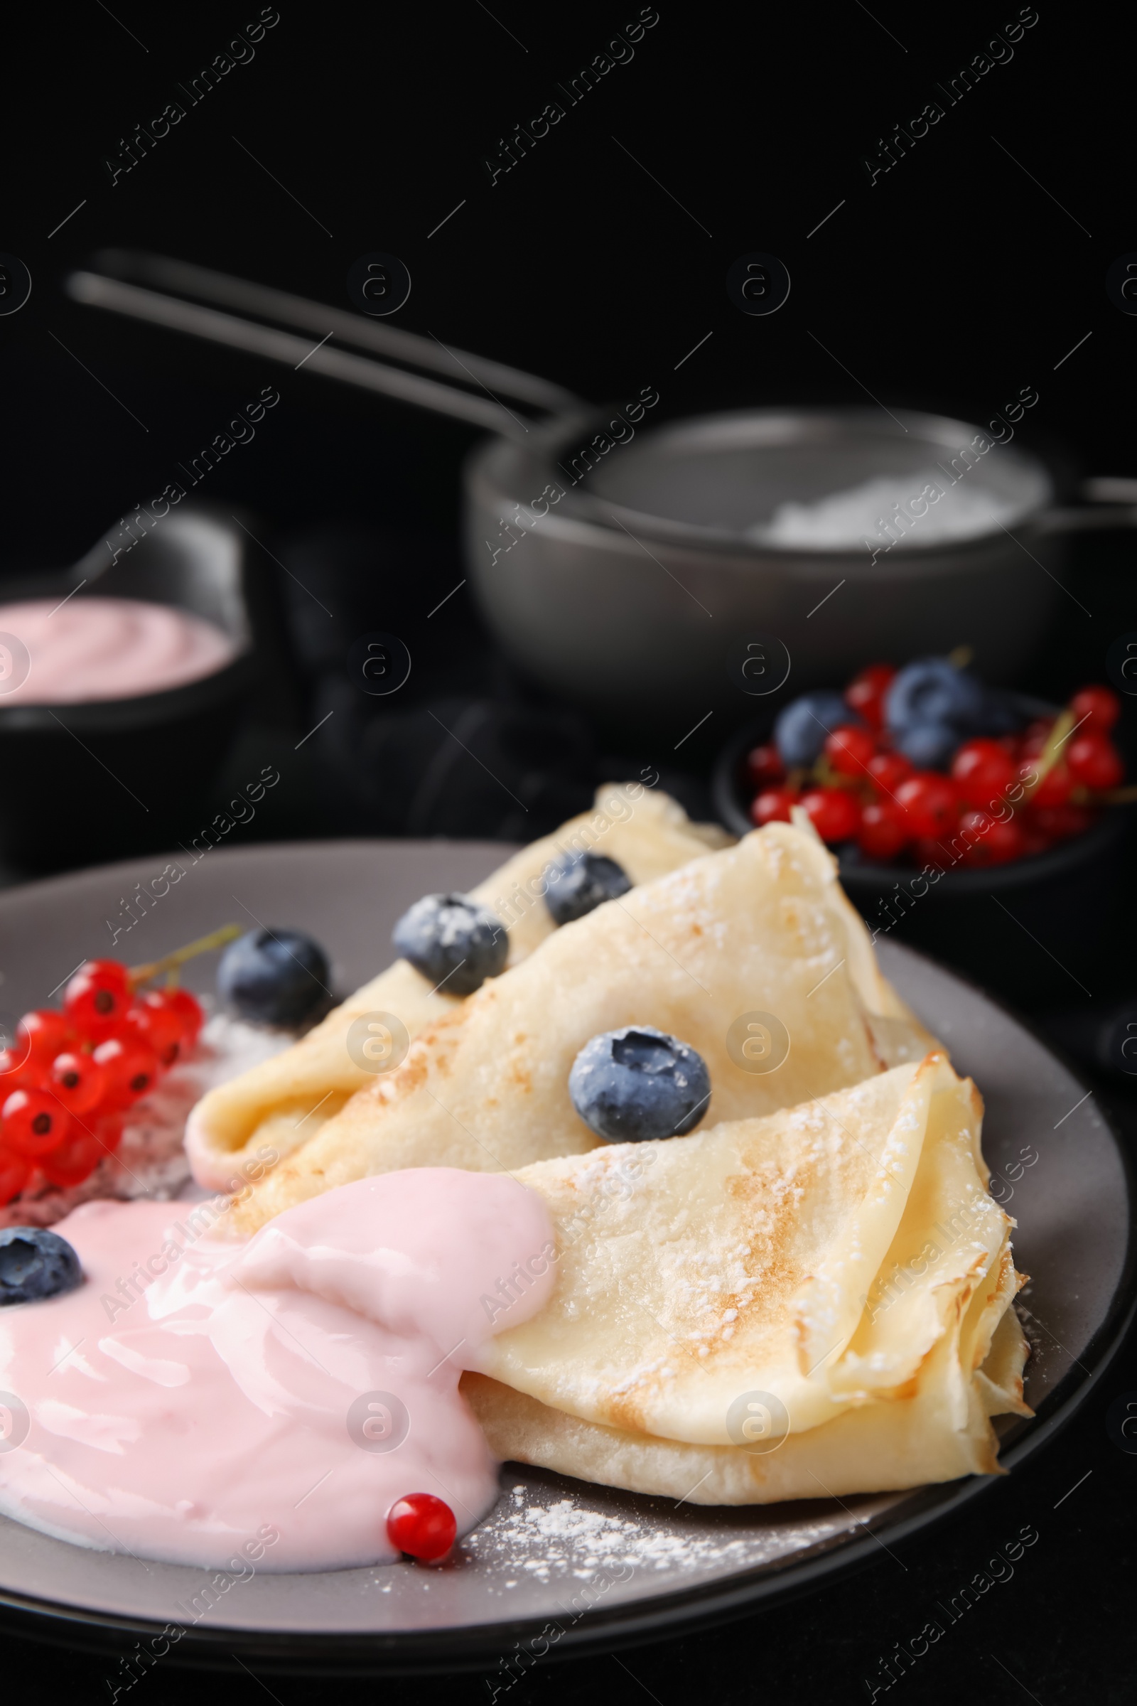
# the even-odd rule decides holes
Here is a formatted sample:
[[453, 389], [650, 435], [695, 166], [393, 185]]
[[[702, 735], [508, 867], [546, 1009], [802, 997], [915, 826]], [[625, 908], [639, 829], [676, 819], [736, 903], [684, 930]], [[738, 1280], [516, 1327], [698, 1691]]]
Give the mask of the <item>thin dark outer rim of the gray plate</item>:
[[[336, 846], [373, 846], [373, 848], [407, 848], [418, 838], [372, 838], [343, 836], [312, 841], [266, 841], [242, 848], [216, 850], [230, 858], [251, 858], [274, 851], [329, 851]], [[493, 843], [472, 838], [435, 838], [431, 848], [440, 844], [484, 848], [511, 848], [513, 843]], [[153, 855], [143, 856], [152, 858]], [[75, 879], [111, 873], [116, 867], [133, 867], [138, 860], [116, 860], [107, 865], [84, 867], [75, 872], [53, 873], [27, 884], [14, 885], [0, 892], [0, 909], [14, 896], [43, 887], [60, 889]], [[932, 955], [903, 942], [888, 943], [890, 950], [898, 950], [903, 957], [922, 960], [936, 971], [946, 974], [970, 993], [978, 995], [997, 1008], [1011, 1024], [1024, 1030], [1038, 1046], [1050, 1054], [1086, 1092], [1094, 1094], [1094, 1087], [1086, 1082], [1084, 1073], [1076, 1066], [1053, 1039], [1036, 1024], [1016, 1012], [1001, 996], [992, 995], [975, 978], [943, 966]], [[982, 1092], [980, 1092], [982, 1094]], [[1007, 1445], [999, 1454], [999, 1462], [1007, 1469], [1021, 1464], [1045, 1448], [1069, 1421], [1081, 1411], [1088, 1397], [1098, 1389], [1110, 1365], [1118, 1355], [1134, 1320], [1137, 1319], [1137, 1225], [1134, 1208], [1137, 1206], [1137, 1158], [1125, 1145], [1122, 1133], [1108, 1107], [1096, 1104], [1096, 1114], [1113, 1143], [1122, 1165], [1127, 1194], [1127, 1240], [1122, 1271], [1103, 1320], [1084, 1346], [1077, 1363], [1088, 1368], [1079, 1373], [1079, 1367], [1069, 1368], [1052, 1392], [1045, 1396], [1035, 1418], [1021, 1419], [1009, 1430]], [[517, 1465], [525, 1471], [532, 1465]], [[564, 1477], [568, 1481], [574, 1477]], [[885, 1512], [874, 1525], [864, 1525], [857, 1539], [834, 1535], [817, 1542], [806, 1556], [796, 1563], [771, 1559], [752, 1564], [730, 1576], [709, 1583], [690, 1583], [649, 1599], [629, 1600], [607, 1609], [595, 1609], [581, 1614], [580, 1626], [563, 1631], [556, 1646], [534, 1658], [534, 1665], [547, 1660], [581, 1658], [588, 1653], [612, 1651], [617, 1646], [636, 1646], [661, 1631], [668, 1634], [689, 1634], [701, 1628], [714, 1628], [735, 1617], [771, 1609], [772, 1605], [799, 1599], [822, 1581], [839, 1580], [859, 1570], [876, 1549], [881, 1547], [880, 1534], [895, 1539], [898, 1544], [917, 1532], [936, 1529], [948, 1522], [975, 1498], [984, 1496], [989, 1488], [1002, 1483], [1002, 1476], [967, 1476], [956, 1483], [912, 1488], [910, 1498], [893, 1506], [898, 1513], [892, 1520], [892, 1512]], [[593, 1483], [581, 1483], [592, 1486]], [[939, 1488], [951, 1488], [941, 1493]], [[905, 1517], [903, 1512], [914, 1505]], [[46, 1600], [38, 1595], [19, 1593], [0, 1585], [0, 1626], [14, 1634], [31, 1639], [63, 1639], [65, 1645], [92, 1653], [107, 1653], [123, 1638], [138, 1639], [160, 1636], [169, 1619], [155, 1621], [148, 1617], [131, 1617], [119, 1612], [104, 1612], [77, 1604]], [[549, 1619], [515, 1617], [501, 1622], [457, 1624], [440, 1629], [419, 1631], [320, 1631], [302, 1629], [273, 1631], [247, 1628], [188, 1628], [176, 1648], [167, 1655], [186, 1668], [232, 1668], [230, 1660], [239, 1663], [239, 1655], [256, 1660], [268, 1670], [297, 1670], [302, 1674], [356, 1674], [356, 1675], [428, 1675], [459, 1670], [486, 1670], [508, 1650], [534, 1638]], [[513, 1680], [520, 1680], [520, 1675]]]

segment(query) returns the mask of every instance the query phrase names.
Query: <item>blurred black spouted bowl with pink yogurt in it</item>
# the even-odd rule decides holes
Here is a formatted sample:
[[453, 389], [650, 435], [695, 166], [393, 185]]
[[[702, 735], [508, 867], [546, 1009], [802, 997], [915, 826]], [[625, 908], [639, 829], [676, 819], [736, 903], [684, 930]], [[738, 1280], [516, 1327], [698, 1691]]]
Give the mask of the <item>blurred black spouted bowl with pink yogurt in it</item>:
[[0, 583], [0, 858], [48, 872], [188, 839], [256, 681], [249, 536], [170, 512]]

